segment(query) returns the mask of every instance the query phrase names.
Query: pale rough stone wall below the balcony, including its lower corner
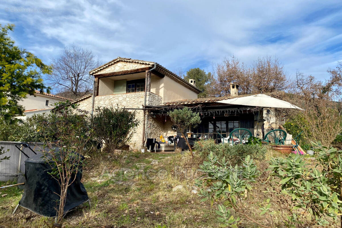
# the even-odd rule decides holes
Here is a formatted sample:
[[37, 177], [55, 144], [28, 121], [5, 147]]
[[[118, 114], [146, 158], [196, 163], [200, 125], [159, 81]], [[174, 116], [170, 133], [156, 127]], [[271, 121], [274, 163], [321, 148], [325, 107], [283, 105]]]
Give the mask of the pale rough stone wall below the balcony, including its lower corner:
[[[105, 96], [96, 96], [94, 100], [95, 107], [119, 107], [119, 108], [143, 108], [145, 92], [137, 93], [125, 93], [125, 94], [113, 94]], [[146, 105], [161, 105], [162, 98], [154, 93], [147, 92]], [[91, 111], [92, 98], [82, 100], [79, 103], [78, 108], [82, 110]], [[134, 110], [130, 110], [134, 111]], [[135, 110], [136, 117], [140, 121], [140, 125], [137, 127], [135, 134], [129, 144], [133, 149], [140, 149], [143, 136], [143, 110]]]

